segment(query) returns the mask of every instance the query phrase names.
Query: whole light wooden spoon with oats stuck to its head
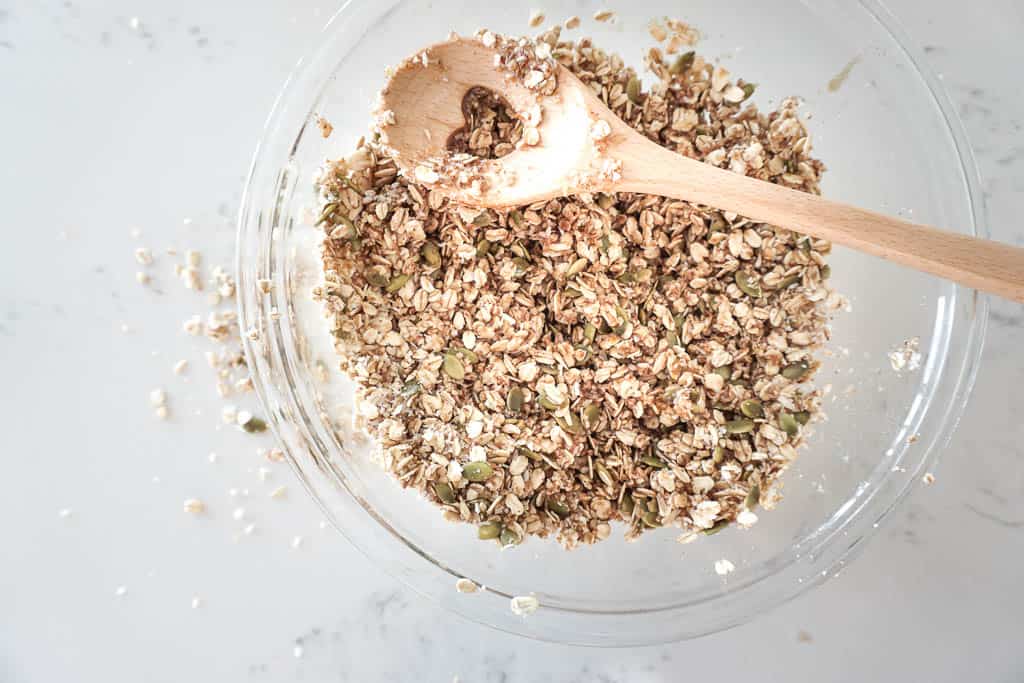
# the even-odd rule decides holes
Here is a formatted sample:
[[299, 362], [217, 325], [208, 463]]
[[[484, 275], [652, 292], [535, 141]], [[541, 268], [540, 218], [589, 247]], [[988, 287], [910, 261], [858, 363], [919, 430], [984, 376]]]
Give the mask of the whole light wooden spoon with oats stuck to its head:
[[[382, 142], [410, 177], [471, 206], [507, 208], [582, 193], [657, 195], [828, 240], [1024, 302], [1024, 249], [909, 223], [757, 180], [666, 150], [631, 128], [567, 69], [550, 95], [496, 67], [497, 48], [453, 38], [402, 63], [381, 92]], [[496, 160], [453, 158], [474, 86], [502, 96], [540, 143]], [[540, 109], [538, 109], [540, 108]], [[599, 123], [604, 122], [604, 123]], [[607, 126], [605, 126], [607, 124]], [[463, 173], [445, 173], [461, 167]], [[474, 182], [475, 181], [475, 182]]]

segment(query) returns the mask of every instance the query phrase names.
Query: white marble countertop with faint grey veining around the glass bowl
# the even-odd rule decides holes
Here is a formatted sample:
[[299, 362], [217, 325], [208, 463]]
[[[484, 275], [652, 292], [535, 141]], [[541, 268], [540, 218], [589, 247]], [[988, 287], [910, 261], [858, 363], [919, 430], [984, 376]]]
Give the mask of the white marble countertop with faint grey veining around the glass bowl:
[[[1020, 3], [890, 5], [959, 109], [994, 237], [1024, 244]], [[220, 429], [209, 372], [180, 332], [205, 306], [159, 287], [172, 280], [163, 255], [163, 293], [139, 287], [132, 252], [201, 246], [208, 263], [230, 263], [253, 140], [332, 9], [0, 0], [0, 680], [1024, 680], [1017, 305], [993, 302], [938, 481], [841, 578], [698, 641], [601, 651], [463, 622], [319, 528], [283, 466], [262, 481], [254, 441]], [[182, 357], [193, 370], [175, 376]], [[156, 386], [171, 397], [167, 423], [147, 402]], [[282, 484], [291, 496], [270, 500]], [[182, 514], [189, 497], [208, 519]], [[237, 506], [252, 536], [237, 538]]]

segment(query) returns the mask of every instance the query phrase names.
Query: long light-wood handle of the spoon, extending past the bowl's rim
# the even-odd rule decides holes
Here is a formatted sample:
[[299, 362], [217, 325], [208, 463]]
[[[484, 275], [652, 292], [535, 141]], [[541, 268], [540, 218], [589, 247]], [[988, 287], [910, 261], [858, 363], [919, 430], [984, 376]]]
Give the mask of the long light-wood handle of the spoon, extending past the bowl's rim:
[[733, 211], [1024, 303], [1024, 249], [940, 230], [732, 173], [636, 140], [615, 188]]

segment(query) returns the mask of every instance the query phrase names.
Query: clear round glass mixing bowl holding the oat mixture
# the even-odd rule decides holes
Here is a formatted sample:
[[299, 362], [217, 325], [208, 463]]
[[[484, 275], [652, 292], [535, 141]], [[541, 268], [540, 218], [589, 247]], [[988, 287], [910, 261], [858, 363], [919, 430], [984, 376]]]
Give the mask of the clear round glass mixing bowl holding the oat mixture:
[[[589, 35], [635, 66], [653, 45], [648, 20], [677, 16], [699, 28], [698, 50], [759, 83], [763, 108], [807, 100], [823, 191], [867, 209], [986, 234], [971, 152], [936, 79], [874, 0], [691, 0], [534, 3], [550, 20], [579, 14]], [[514, 5], [514, 6], [510, 6]], [[685, 7], [685, 14], [681, 14]], [[502, 551], [476, 529], [451, 524], [401, 489], [369, 458], [343, 417], [351, 391], [310, 289], [319, 276], [313, 174], [346, 156], [368, 130], [384, 69], [450, 31], [529, 31], [520, 3], [350, 0], [311, 37], [316, 46], [273, 108], [253, 162], [239, 226], [242, 328], [257, 391], [288, 459], [331, 521], [372, 561], [471, 620], [565, 643], [635, 645], [725, 629], [842, 570], [879, 522], [931, 469], [949, 439], [978, 368], [986, 307], [977, 293], [879, 259], [835, 250], [834, 282], [852, 310], [834, 325], [828, 421], [783, 475], [784, 500], [750, 530], [728, 528], [681, 546], [673, 529], [627, 544], [617, 528], [566, 552], [527, 540]], [[829, 81], [853, 65], [838, 90]], [[835, 90], [835, 91], [834, 91]], [[324, 139], [314, 113], [335, 127]], [[268, 279], [271, 292], [257, 281]], [[921, 338], [924, 362], [896, 373], [887, 354]], [[715, 561], [736, 569], [719, 577]], [[485, 587], [456, 591], [467, 577]], [[509, 599], [536, 595], [517, 616]]]

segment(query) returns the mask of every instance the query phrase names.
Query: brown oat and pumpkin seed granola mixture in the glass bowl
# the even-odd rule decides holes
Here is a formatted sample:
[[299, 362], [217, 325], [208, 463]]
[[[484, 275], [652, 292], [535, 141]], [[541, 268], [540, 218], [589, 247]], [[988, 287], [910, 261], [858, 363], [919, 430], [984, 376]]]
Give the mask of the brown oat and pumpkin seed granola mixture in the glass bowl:
[[[679, 154], [818, 193], [798, 101], [693, 52], [649, 50], [645, 89], [588, 39], [542, 34], [624, 121]], [[532, 44], [532, 43], [531, 43]], [[523, 126], [487, 93], [457, 144], [508, 154]], [[481, 539], [566, 547], [757, 521], [819, 416], [815, 351], [842, 305], [830, 246], [686, 202], [581, 195], [458, 207], [364, 141], [317, 180], [323, 301], [359, 426], [384, 466]]]

